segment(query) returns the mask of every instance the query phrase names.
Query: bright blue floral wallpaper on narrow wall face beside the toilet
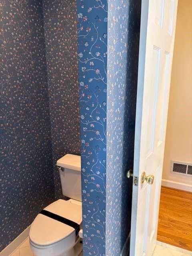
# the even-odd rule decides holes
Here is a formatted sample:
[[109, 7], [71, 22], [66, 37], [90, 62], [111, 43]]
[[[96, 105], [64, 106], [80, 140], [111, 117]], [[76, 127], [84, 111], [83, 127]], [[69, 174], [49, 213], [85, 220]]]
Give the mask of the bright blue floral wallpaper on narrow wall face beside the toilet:
[[84, 256], [105, 255], [107, 1], [77, 0]]

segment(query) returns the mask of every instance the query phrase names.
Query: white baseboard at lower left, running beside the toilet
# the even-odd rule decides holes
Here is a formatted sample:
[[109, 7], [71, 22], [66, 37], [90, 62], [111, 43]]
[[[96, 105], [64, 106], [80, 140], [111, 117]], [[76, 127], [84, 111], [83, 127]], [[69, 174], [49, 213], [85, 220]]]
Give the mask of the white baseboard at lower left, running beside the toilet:
[[28, 226], [26, 230], [24, 230], [20, 235], [18, 235], [15, 238], [15, 240], [13, 240], [13, 242], [8, 244], [8, 246], [6, 246], [6, 248], [4, 248], [0, 252], [0, 256], [9, 256], [10, 254], [12, 254], [20, 246], [20, 244], [22, 244], [28, 238], [29, 230], [30, 226]]

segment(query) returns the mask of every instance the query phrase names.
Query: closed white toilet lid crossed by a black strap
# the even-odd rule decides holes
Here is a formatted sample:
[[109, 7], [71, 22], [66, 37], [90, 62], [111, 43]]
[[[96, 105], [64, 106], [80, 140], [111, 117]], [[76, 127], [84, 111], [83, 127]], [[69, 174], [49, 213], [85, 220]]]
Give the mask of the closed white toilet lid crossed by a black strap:
[[[79, 225], [82, 223], [82, 206], [70, 201], [59, 199], [44, 210], [72, 220]], [[34, 244], [50, 245], [66, 238], [72, 232], [75, 232], [75, 229], [71, 226], [38, 214], [31, 225], [29, 236]]]

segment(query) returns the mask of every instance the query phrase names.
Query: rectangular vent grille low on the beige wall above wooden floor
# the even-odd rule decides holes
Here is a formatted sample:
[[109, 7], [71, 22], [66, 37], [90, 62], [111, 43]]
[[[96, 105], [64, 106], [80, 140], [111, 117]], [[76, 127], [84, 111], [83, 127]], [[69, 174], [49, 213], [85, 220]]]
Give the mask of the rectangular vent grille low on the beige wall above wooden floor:
[[175, 162], [171, 161], [171, 172], [192, 176], [192, 164], [191, 163], [183, 163], [183, 162]]

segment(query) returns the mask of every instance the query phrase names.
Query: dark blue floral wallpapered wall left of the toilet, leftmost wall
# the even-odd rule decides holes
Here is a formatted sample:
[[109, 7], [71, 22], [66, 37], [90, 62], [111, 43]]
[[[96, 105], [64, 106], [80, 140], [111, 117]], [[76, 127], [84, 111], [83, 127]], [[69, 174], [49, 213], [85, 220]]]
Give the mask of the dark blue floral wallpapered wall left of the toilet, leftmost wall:
[[54, 200], [40, 0], [0, 1], [0, 251]]

